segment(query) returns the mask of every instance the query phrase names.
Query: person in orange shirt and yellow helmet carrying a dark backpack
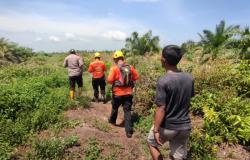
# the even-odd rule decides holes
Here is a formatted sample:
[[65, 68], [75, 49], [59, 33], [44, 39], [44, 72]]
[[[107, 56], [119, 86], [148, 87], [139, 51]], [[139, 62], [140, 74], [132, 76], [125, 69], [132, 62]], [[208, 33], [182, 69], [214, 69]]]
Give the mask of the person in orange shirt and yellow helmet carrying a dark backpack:
[[128, 138], [132, 137], [133, 128], [131, 121], [131, 106], [133, 99], [134, 82], [139, 78], [135, 68], [124, 62], [124, 55], [121, 51], [116, 51], [113, 55], [115, 66], [110, 69], [108, 83], [112, 84], [112, 110], [109, 123], [116, 124], [118, 108], [123, 106], [125, 132]]

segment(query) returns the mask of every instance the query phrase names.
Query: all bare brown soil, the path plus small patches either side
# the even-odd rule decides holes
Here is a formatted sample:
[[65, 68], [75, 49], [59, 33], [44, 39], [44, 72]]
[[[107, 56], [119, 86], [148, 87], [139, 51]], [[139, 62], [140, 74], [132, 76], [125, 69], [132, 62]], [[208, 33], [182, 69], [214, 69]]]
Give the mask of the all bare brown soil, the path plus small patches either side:
[[[142, 142], [138, 133], [135, 133], [132, 138], [126, 137], [122, 108], [120, 107], [119, 109], [116, 126], [108, 123], [110, 111], [110, 103], [91, 103], [88, 109], [76, 108], [64, 113], [67, 121], [78, 121], [80, 123], [74, 128], [64, 128], [57, 135], [59, 137], [76, 135], [79, 138], [79, 145], [67, 149], [64, 159], [84, 159], [85, 151], [89, 147], [89, 141], [92, 139], [96, 139], [101, 148], [101, 156], [104, 157], [101, 159], [150, 159], [146, 145], [142, 145], [142, 143], [145, 143], [145, 140]], [[201, 128], [203, 119], [192, 114], [190, 116], [192, 125]], [[95, 121], [98, 121], [99, 127], [95, 125]], [[39, 139], [47, 139], [52, 136], [54, 136], [54, 133], [50, 130], [42, 131], [38, 135]], [[29, 145], [20, 146], [15, 151], [15, 157], [18, 157], [17, 159], [25, 159], [23, 155], [29, 150]], [[217, 158], [219, 160], [250, 160], [249, 157], [249, 152], [240, 145], [223, 144], [218, 147]]]

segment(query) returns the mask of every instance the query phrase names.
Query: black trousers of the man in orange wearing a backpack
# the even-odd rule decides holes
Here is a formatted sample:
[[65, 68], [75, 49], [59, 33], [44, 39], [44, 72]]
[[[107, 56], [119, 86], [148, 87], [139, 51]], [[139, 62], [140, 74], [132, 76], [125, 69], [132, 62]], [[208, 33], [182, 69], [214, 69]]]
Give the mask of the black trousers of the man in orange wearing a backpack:
[[124, 111], [124, 121], [125, 121], [125, 131], [126, 133], [133, 133], [132, 121], [131, 121], [131, 106], [133, 104], [133, 96], [115, 96], [112, 97], [112, 111], [109, 118], [111, 123], [116, 122], [119, 106], [123, 106]]

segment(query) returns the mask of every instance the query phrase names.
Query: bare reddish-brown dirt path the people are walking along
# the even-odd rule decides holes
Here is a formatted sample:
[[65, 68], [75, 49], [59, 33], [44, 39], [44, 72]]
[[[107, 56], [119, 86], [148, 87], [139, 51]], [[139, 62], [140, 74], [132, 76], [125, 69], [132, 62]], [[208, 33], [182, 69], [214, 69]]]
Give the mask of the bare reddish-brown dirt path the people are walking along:
[[110, 103], [92, 103], [89, 109], [77, 108], [65, 112], [67, 120], [79, 121], [80, 124], [61, 132], [62, 137], [79, 137], [79, 146], [68, 151], [68, 159], [82, 159], [86, 149], [90, 147], [88, 143], [94, 140], [101, 148], [102, 159], [147, 159], [143, 156], [138, 135], [135, 133], [132, 138], [125, 135], [122, 107], [119, 108], [116, 126], [108, 123], [110, 111]]

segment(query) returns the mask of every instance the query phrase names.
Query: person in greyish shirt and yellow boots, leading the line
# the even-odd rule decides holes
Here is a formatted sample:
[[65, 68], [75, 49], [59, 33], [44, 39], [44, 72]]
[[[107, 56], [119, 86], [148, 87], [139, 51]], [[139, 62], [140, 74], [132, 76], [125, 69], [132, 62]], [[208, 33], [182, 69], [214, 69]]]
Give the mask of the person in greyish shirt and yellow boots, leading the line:
[[70, 99], [73, 100], [75, 97], [75, 83], [78, 85], [79, 96], [82, 95], [82, 71], [83, 61], [82, 58], [76, 55], [76, 51], [71, 49], [68, 55], [64, 59], [64, 67], [68, 68], [69, 84], [70, 84]]

